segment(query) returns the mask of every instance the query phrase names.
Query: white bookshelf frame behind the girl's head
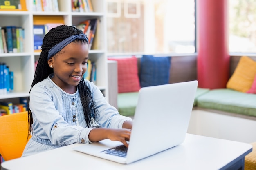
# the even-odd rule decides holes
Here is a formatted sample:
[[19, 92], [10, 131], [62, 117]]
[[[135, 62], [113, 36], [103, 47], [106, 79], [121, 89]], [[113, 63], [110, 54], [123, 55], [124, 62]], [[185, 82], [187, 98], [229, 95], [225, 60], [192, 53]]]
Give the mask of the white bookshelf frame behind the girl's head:
[[99, 46], [89, 51], [89, 58], [96, 62], [97, 82], [108, 99], [108, 68], [106, 55], [106, 2], [105, 0], [92, 0], [94, 12], [72, 12], [71, 0], [58, 0], [59, 12], [33, 11], [33, 0], [26, 0], [27, 11], [0, 11], [0, 26], [21, 26], [25, 29], [24, 53], [0, 53], [0, 62], [5, 62], [10, 71], [14, 72], [14, 91], [0, 95], [0, 101], [27, 97], [34, 77], [34, 62], [39, 58], [40, 52], [34, 52], [33, 18], [37, 16], [62, 17], [64, 24], [72, 26], [86, 19], [99, 18], [98, 25]]

